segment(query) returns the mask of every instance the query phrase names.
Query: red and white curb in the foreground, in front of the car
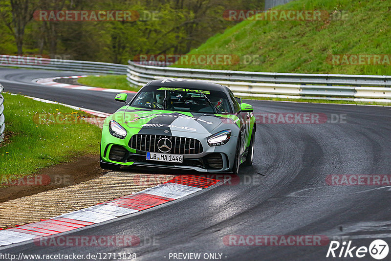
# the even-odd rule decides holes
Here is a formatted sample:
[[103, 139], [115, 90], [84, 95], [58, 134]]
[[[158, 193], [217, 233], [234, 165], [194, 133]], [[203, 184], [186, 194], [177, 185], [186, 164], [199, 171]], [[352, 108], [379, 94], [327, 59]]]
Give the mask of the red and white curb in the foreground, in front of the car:
[[177, 176], [166, 183], [92, 207], [37, 223], [0, 231], [0, 246], [39, 239], [152, 208], [220, 184], [220, 180], [193, 175]]

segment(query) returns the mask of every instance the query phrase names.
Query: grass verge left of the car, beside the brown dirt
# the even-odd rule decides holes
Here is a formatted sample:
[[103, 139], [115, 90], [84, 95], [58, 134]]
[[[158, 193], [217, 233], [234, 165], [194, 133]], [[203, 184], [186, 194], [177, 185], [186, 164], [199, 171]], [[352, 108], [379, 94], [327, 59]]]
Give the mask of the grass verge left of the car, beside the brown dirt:
[[0, 144], [0, 178], [34, 174], [76, 156], [99, 153], [101, 129], [94, 125], [46, 125], [33, 121], [36, 113], [86, 113], [21, 95], [4, 93], [3, 96], [7, 138]]

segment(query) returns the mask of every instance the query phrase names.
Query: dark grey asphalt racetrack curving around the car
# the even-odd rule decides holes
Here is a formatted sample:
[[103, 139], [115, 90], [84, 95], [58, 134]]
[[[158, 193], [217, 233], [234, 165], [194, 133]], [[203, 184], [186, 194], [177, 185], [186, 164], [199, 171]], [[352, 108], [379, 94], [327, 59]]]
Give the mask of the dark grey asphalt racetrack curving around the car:
[[[31, 82], [71, 75], [78, 74], [1, 68], [0, 83], [8, 92], [86, 109], [113, 113], [121, 106], [114, 101], [115, 93]], [[391, 107], [247, 102], [254, 106], [254, 113], [319, 113], [336, 122], [258, 122], [254, 164], [241, 166], [239, 182], [59, 234], [136, 235], [141, 240], [138, 246], [43, 247], [30, 241], [2, 248], [0, 253], [136, 253], [136, 260], [159, 261], [179, 260], [174, 253], [201, 253], [201, 257], [218, 253], [221, 260], [343, 260], [326, 258], [329, 243], [284, 246], [250, 245], [249, 241], [238, 246], [232, 245], [235, 240], [227, 243], [230, 235], [322, 235], [366, 247], [374, 239], [383, 239], [391, 246], [391, 186], [334, 186], [329, 176], [391, 174]], [[367, 253], [360, 260], [373, 259]]]

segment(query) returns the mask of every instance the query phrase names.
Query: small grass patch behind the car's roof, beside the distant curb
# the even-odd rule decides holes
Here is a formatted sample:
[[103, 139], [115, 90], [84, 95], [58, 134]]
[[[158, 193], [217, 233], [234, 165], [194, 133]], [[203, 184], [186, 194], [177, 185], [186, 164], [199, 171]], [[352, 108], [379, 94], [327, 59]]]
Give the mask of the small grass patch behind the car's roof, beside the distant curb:
[[122, 89], [138, 91], [140, 87], [133, 87], [129, 85], [126, 80], [126, 75], [103, 75], [103, 76], [88, 76], [85, 78], [79, 78], [77, 80], [82, 85], [110, 88], [110, 89]]

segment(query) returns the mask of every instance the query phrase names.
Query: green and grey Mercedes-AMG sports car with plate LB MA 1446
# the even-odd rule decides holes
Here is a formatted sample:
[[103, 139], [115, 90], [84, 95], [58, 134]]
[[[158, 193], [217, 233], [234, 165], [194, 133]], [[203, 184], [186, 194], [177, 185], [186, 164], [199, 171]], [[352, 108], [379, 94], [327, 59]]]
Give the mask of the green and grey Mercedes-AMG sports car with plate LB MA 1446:
[[225, 86], [182, 79], [154, 80], [105, 119], [100, 166], [239, 172], [254, 155], [253, 107]]

